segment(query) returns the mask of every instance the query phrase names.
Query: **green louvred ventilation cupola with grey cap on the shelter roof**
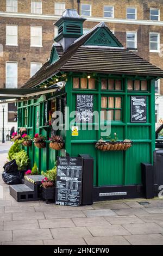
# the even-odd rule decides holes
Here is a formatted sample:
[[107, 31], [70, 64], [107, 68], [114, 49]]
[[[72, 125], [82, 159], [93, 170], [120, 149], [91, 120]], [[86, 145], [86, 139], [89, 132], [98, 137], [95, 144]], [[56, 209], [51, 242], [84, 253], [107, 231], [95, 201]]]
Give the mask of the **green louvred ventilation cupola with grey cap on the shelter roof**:
[[58, 27], [58, 35], [54, 40], [62, 45], [64, 51], [74, 40], [83, 35], [83, 22], [85, 20], [77, 13], [77, 10], [66, 9], [62, 17], [54, 23], [54, 26]]

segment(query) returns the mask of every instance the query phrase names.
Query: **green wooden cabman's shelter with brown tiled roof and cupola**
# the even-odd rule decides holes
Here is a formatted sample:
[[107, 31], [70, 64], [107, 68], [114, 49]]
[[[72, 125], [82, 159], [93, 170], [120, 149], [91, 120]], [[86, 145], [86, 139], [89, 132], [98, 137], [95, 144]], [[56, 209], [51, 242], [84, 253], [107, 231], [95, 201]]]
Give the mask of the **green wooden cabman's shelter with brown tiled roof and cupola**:
[[[35, 93], [19, 102], [18, 127], [26, 127], [29, 135], [39, 133], [47, 138], [46, 148], [33, 145], [27, 149], [32, 165], [36, 162], [39, 170], [52, 168], [58, 155], [89, 154], [94, 159], [94, 200], [141, 197], [141, 163], [153, 164], [155, 150], [154, 82], [163, 77], [163, 71], [123, 47], [103, 22], [83, 34], [84, 21], [76, 10], [67, 9], [55, 23], [58, 36], [48, 62], [23, 86], [54, 88], [54, 92]], [[70, 113], [79, 110], [76, 120], [69, 118], [65, 106]], [[126, 151], [95, 148], [101, 137], [108, 141], [109, 134], [102, 136], [100, 118], [87, 119], [81, 109], [104, 113], [103, 125], [109, 111], [111, 138], [116, 133], [118, 141], [130, 139], [132, 147]], [[64, 114], [56, 131], [65, 141], [65, 148], [59, 151], [48, 147], [55, 111]], [[76, 136], [72, 129], [65, 129], [66, 124], [79, 127], [81, 120], [83, 129], [77, 129]], [[110, 196], [111, 192], [115, 194]]]

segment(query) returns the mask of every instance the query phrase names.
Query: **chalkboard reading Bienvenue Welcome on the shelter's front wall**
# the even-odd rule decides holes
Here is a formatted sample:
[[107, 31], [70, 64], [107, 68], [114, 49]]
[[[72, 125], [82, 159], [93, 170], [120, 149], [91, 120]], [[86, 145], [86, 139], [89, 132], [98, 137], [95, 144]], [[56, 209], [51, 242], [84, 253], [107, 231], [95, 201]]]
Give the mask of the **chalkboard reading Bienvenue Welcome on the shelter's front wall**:
[[77, 123], [92, 123], [93, 95], [77, 94], [76, 96]]

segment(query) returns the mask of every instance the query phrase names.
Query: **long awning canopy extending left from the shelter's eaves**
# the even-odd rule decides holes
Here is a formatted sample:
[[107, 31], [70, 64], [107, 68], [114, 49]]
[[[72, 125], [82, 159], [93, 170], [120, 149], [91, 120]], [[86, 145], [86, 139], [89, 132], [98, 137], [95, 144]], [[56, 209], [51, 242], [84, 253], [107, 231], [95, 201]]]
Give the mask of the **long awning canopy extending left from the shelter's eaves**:
[[15, 89], [10, 89], [10, 88], [5, 88], [5, 89], [0, 89], [0, 103], [6, 103], [7, 100], [15, 100], [15, 101], [20, 101], [24, 100], [29, 97], [35, 97], [39, 96], [42, 94], [47, 94], [47, 93], [53, 93], [55, 92], [59, 86], [54, 85], [49, 88], [15, 88]]

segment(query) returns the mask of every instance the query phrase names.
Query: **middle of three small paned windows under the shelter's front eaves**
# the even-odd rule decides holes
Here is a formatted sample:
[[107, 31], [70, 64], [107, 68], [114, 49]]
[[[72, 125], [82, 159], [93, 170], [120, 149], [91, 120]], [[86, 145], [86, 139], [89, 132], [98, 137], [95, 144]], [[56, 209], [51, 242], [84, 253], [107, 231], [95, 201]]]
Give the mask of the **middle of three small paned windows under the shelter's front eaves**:
[[103, 79], [101, 80], [102, 90], [122, 90], [122, 80]]

